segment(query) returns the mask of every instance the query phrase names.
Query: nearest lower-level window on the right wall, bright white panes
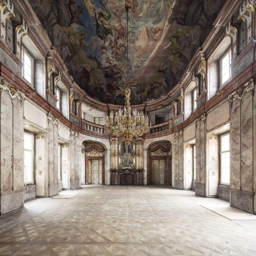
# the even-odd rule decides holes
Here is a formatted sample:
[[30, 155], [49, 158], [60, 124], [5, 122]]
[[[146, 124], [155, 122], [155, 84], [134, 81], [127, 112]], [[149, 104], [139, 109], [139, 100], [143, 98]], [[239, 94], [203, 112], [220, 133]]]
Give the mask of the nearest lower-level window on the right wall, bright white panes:
[[229, 184], [230, 177], [229, 133], [221, 136], [221, 183]]

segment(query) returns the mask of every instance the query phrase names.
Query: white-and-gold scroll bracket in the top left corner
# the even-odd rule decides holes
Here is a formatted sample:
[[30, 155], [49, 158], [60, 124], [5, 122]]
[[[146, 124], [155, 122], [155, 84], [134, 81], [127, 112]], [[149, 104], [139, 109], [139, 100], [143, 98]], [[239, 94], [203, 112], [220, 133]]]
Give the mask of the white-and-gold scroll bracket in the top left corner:
[[7, 37], [7, 24], [9, 18], [15, 17], [15, 7], [12, 4], [12, 0], [6, 0], [0, 4], [0, 38], [6, 42]]

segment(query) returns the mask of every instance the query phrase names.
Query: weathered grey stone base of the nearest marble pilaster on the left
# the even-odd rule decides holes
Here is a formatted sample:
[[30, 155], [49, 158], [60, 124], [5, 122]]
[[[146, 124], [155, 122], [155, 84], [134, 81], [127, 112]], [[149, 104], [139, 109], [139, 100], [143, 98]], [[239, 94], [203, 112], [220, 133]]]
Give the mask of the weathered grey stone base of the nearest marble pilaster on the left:
[[23, 208], [23, 193], [24, 189], [0, 193], [0, 215]]

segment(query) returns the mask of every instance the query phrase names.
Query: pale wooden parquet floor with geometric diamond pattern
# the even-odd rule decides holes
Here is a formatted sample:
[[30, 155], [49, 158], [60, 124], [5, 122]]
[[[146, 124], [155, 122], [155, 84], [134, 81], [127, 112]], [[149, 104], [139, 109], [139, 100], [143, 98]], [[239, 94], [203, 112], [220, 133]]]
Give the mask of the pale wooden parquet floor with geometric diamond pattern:
[[[7, 228], [0, 229], [0, 255], [256, 255], [256, 231], [200, 206], [219, 199], [167, 185], [82, 190], [65, 200], [38, 198], [1, 216], [0, 226]], [[44, 211], [37, 208], [40, 202]], [[26, 215], [33, 203], [36, 209]]]

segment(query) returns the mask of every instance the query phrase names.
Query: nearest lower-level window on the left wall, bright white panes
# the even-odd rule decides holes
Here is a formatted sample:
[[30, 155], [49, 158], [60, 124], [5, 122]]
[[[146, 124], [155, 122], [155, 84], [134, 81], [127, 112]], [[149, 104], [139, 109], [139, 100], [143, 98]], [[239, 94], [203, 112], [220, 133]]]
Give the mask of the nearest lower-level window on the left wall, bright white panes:
[[32, 182], [33, 175], [33, 136], [24, 132], [24, 182]]

